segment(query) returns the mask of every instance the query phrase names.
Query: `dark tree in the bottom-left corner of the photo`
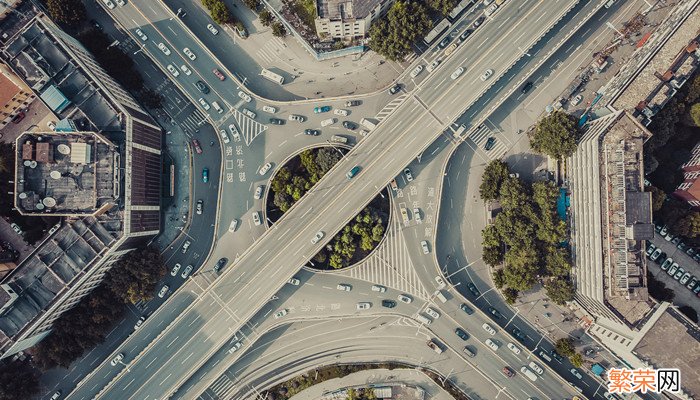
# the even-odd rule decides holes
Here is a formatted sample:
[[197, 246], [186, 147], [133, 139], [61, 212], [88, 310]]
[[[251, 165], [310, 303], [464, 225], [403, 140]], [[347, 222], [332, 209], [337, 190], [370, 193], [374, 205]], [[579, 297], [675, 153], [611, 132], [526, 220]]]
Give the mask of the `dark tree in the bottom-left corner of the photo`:
[[6, 361], [0, 364], [0, 399], [24, 400], [39, 394], [39, 374], [28, 361]]

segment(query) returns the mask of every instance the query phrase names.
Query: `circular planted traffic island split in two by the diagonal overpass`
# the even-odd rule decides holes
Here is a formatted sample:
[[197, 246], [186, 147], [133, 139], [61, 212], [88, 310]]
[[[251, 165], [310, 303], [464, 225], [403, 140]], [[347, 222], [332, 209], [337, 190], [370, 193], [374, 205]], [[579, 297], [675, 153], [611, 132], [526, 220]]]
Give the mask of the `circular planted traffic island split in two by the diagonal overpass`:
[[[292, 157], [270, 180], [266, 214], [275, 223], [340, 161], [346, 149], [317, 147]], [[384, 238], [389, 223], [389, 194], [378, 194], [309, 262], [309, 267], [334, 270], [362, 261]]]

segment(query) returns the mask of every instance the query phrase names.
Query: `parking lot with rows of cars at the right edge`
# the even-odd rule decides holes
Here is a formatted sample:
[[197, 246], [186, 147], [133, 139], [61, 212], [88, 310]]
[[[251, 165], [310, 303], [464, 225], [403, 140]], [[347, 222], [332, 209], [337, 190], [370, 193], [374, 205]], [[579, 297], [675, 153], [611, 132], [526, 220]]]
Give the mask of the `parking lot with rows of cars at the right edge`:
[[[698, 315], [700, 315], [700, 297], [697, 297], [696, 293], [693, 290], [687, 288], [687, 285], [692, 281], [693, 276], [697, 277], [697, 279], [700, 280], [700, 264], [698, 264], [698, 262], [695, 261], [693, 257], [689, 256], [686, 253], [686, 251], [688, 250], [687, 248], [685, 249], [685, 251], [678, 248], [678, 244], [680, 244], [681, 242], [677, 242], [676, 244], [674, 244], [674, 242], [677, 241], [673, 239], [666, 240], [664, 236], [662, 236], [660, 233], [655, 233], [654, 239], [651, 241], [651, 244], [654, 245], [655, 249], [660, 249], [662, 255], [660, 255], [656, 261], [649, 261], [649, 272], [658, 281], [663, 282], [667, 288], [674, 291], [674, 305], [679, 307], [690, 306], [698, 313]], [[664, 260], [664, 254], [666, 262], [665, 265], [663, 264], [663, 262], [660, 262]], [[664, 269], [666, 269], [666, 271], [662, 270], [662, 266]], [[685, 275], [685, 273], [688, 273], [690, 275], [685, 284], [681, 284], [679, 282], [679, 280], [682, 280], [682, 275], [679, 277], [679, 280], [677, 280], [668, 274], [668, 271], [675, 270], [674, 275], [678, 276], [678, 271], [681, 268], [683, 269], [683, 271], [685, 271], [683, 275]], [[698, 287], [698, 285], [700, 285], [700, 282], [696, 283], [694, 287]]]

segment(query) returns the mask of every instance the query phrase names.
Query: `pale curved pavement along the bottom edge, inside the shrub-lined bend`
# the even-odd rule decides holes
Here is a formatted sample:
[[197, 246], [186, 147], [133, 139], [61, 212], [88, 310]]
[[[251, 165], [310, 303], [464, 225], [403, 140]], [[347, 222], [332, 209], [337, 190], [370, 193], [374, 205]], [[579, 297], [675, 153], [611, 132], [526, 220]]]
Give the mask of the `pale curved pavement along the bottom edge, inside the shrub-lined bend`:
[[[345, 399], [344, 389], [356, 387], [392, 387], [392, 399], [397, 400], [452, 400], [452, 397], [427, 375], [414, 369], [372, 369], [331, 379], [291, 397], [293, 400]], [[405, 387], [404, 387], [405, 386]], [[340, 392], [342, 390], [342, 392]]]

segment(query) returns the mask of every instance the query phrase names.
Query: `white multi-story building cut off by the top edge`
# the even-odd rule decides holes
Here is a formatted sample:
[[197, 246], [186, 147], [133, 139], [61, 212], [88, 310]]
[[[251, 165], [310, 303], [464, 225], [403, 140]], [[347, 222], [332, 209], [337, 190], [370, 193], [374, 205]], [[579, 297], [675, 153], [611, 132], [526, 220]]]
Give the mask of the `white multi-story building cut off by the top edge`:
[[362, 38], [394, 0], [317, 0], [316, 32], [337, 39]]

